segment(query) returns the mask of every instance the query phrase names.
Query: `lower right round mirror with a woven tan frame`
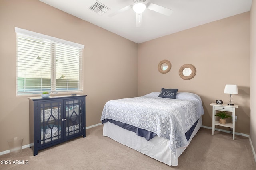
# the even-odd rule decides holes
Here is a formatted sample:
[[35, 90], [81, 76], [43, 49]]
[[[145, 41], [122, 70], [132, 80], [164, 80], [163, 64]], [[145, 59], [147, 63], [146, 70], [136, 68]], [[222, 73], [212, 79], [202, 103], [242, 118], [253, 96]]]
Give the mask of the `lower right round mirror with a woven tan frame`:
[[196, 75], [196, 67], [192, 64], [184, 64], [179, 70], [180, 77], [184, 80], [190, 80]]

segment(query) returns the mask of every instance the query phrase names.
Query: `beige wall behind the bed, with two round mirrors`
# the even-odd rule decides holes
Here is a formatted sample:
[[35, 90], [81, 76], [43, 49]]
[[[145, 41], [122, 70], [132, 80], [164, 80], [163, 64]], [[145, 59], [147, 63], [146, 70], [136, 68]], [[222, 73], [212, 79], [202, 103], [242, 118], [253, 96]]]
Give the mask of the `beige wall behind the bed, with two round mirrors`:
[[[250, 12], [140, 43], [138, 57], [138, 95], [159, 92], [162, 87], [196, 93], [204, 106], [204, 126], [212, 127], [211, 102], [228, 103], [225, 84], [237, 84], [236, 132], [250, 133]], [[158, 72], [163, 59], [172, 63], [167, 74]], [[193, 79], [180, 78], [183, 64], [196, 67]]]

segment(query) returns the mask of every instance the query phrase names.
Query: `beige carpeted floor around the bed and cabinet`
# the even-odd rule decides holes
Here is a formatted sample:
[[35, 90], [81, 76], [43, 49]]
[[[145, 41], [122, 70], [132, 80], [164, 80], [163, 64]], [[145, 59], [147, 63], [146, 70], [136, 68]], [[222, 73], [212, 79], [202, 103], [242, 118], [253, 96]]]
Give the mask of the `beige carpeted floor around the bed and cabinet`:
[[[249, 139], [201, 128], [178, 158], [178, 166], [168, 166], [108, 137], [103, 125], [86, 130], [86, 138], [40, 150], [33, 156], [26, 148], [18, 155], [0, 156], [1, 170], [256, 170]], [[18, 162], [16, 162], [18, 160]], [[11, 164], [3, 164], [10, 161]], [[14, 163], [18, 164], [14, 164]]]

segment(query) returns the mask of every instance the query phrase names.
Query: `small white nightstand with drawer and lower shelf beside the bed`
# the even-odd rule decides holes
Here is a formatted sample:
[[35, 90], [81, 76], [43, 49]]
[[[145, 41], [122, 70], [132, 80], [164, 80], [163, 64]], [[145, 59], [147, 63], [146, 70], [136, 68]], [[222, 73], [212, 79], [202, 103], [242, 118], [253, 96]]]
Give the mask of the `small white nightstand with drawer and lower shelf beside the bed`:
[[[238, 108], [238, 105], [228, 105], [228, 104], [216, 104], [216, 103], [211, 103], [212, 106], [212, 135], [214, 135], [215, 131], [215, 125], [218, 126], [224, 126], [224, 127], [229, 127], [233, 128], [233, 140], [235, 140], [235, 113], [236, 113], [236, 108]], [[232, 123], [226, 123], [226, 124], [220, 124], [219, 121], [216, 121], [216, 111], [228, 111], [232, 112]]]

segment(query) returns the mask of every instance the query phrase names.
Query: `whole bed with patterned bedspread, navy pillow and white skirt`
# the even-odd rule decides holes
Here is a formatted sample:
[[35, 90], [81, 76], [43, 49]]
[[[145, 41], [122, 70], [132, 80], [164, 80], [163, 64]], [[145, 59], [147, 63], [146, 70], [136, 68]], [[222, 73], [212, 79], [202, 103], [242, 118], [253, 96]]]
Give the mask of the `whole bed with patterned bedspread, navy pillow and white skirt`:
[[197, 94], [173, 90], [162, 88], [161, 92], [106, 102], [101, 116], [103, 135], [177, 166], [178, 157], [202, 126], [204, 110]]

